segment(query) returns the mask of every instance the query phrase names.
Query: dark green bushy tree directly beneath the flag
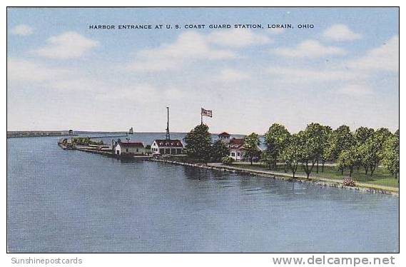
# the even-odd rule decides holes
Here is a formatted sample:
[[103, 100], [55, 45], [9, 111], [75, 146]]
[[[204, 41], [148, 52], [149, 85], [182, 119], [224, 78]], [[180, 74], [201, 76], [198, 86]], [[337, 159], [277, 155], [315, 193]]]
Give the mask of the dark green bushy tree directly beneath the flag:
[[208, 126], [199, 124], [190, 132], [186, 133], [184, 138], [186, 143], [186, 154], [198, 161], [208, 162], [211, 151], [211, 135], [208, 132]]

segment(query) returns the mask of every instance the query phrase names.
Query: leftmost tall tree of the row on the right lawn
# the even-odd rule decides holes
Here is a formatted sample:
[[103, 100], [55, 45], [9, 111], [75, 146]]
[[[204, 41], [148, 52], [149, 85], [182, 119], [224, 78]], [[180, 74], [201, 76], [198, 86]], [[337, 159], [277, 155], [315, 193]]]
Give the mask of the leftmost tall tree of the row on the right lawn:
[[266, 151], [263, 153], [263, 158], [268, 161], [268, 166], [276, 168], [278, 156], [283, 152], [283, 149], [288, 145], [290, 133], [285, 126], [280, 124], [272, 124], [265, 133]]

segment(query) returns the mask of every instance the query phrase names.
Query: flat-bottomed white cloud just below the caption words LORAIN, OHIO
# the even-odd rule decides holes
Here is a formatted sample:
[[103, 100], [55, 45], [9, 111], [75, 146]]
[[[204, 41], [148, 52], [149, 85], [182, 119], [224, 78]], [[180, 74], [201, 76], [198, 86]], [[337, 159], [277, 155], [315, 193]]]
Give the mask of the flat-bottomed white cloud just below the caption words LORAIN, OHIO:
[[322, 56], [344, 55], [346, 51], [337, 46], [324, 46], [319, 41], [306, 40], [295, 48], [273, 49], [273, 53], [292, 58], [318, 58]]

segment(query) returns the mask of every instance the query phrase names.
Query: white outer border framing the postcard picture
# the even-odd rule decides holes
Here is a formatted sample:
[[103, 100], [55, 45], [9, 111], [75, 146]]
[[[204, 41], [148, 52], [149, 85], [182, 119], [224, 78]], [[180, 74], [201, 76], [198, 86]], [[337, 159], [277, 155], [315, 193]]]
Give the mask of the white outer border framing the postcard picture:
[[[401, 6], [404, 1], [289, 1], [289, 4], [286, 1], [233, 1], [233, 6]], [[176, 1], [2, 1], [3, 9], [1, 10], [1, 36], [3, 38], [1, 42], [1, 51], [3, 51], [1, 56], [1, 81], [2, 87], [4, 86], [3, 96], [6, 95], [6, 6], [223, 6], [225, 4], [219, 3], [218, 1], [206, 0], [206, 1], [185, 1], [185, 0], [176, 0]], [[230, 6], [230, 5], [228, 5]], [[400, 9], [402, 11], [402, 9]], [[400, 29], [401, 31], [405, 29], [404, 20], [400, 16]], [[402, 44], [403, 34], [400, 33], [400, 43]], [[400, 46], [402, 47], [402, 46]], [[400, 53], [400, 71], [403, 71], [402, 67], [405, 62], [405, 56], [403, 53]], [[402, 74], [400, 73], [400, 88], [402, 88]], [[400, 90], [400, 114], [403, 118], [403, 113], [405, 107], [402, 104], [405, 103], [404, 94]], [[4, 106], [3, 106], [4, 105]], [[3, 126], [1, 131], [1, 140], [6, 140], [6, 97], [1, 101], [1, 125]], [[404, 123], [400, 121], [400, 128], [405, 129]], [[403, 133], [403, 131], [402, 131]], [[403, 137], [402, 137], [403, 140]], [[401, 147], [402, 146], [401, 142]], [[402, 150], [401, 151], [405, 151]], [[402, 154], [403, 155], [403, 154]], [[402, 169], [403, 164], [401, 161]], [[0, 246], [0, 262], [1, 266], [17, 266], [16, 264], [11, 264], [11, 258], [82, 258], [83, 263], [78, 264], [77, 266], [272, 266], [271, 261], [272, 257], [275, 256], [311, 256], [310, 254], [192, 254], [192, 253], [181, 253], [181, 254], [160, 254], [160, 253], [151, 253], [151, 254], [6, 254], [6, 149], [4, 148], [4, 153], [1, 155], [1, 181], [3, 181], [2, 191], [1, 191], [1, 207], [3, 208], [3, 213], [1, 213], [0, 220], [0, 229], [1, 229], [1, 246]], [[402, 180], [402, 178], [400, 178]], [[400, 198], [400, 206], [403, 208], [406, 206], [405, 201]], [[400, 226], [405, 222], [405, 218], [400, 213]], [[385, 226], [382, 226], [385, 227]], [[405, 238], [405, 231], [402, 231], [400, 227], [400, 239]], [[373, 238], [372, 238], [373, 240]], [[402, 244], [400, 245], [400, 250], [404, 253], [400, 254], [383, 254], [382, 256], [390, 257], [395, 256], [395, 266], [405, 266], [405, 248]], [[316, 254], [316, 256], [323, 256], [323, 254]], [[379, 256], [378, 254], [327, 254], [327, 256]], [[23, 266], [23, 265], [18, 265]], [[24, 265], [26, 266], [26, 265]], [[53, 265], [55, 266], [55, 265]], [[67, 266], [63, 264], [62, 266]], [[312, 266], [305, 264], [303, 266]], [[314, 265], [313, 265], [314, 266]], [[392, 265], [390, 265], [392, 266]]]

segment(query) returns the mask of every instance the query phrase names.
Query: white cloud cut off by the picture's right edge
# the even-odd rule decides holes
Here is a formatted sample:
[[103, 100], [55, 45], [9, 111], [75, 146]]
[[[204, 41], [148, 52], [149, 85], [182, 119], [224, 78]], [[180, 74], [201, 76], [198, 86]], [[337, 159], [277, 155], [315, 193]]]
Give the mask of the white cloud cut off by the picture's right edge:
[[347, 66], [366, 71], [399, 71], [399, 36], [393, 36], [376, 49], [367, 51], [365, 56], [349, 61]]

